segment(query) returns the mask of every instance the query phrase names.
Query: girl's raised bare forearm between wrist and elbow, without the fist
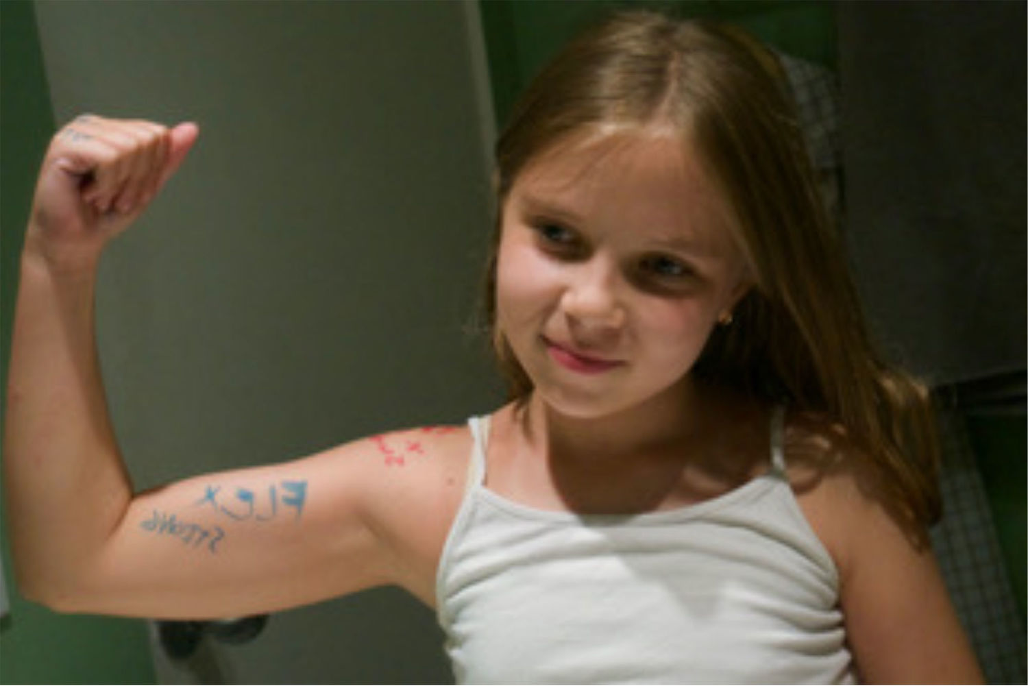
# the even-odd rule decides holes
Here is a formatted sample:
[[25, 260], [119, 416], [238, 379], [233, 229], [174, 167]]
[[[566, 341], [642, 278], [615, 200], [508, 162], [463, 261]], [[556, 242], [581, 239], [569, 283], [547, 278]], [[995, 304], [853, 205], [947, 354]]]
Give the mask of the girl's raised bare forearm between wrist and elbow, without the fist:
[[95, 267], [60, 269], [23, 254], [4, 499], [20, 588], [56, 607], [88, 583], [132, 499], [101, 380], [95, 292]]

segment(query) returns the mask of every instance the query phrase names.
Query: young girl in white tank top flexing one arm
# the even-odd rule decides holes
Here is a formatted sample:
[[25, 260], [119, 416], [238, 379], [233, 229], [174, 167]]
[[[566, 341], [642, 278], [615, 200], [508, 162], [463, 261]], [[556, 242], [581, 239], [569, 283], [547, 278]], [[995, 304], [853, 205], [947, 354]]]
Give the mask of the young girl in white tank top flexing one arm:
[[12, 345], [23, 592], [217, 618], [397, 584], [468, 682], [980, 681], [926, 544], [926, 394], [869, 345], [770, 59], [635, 12], [540, 75], [497, 148], [510, 404], [140, 494], [96, 362], [97, 263], [197, 130], [69, 123]]

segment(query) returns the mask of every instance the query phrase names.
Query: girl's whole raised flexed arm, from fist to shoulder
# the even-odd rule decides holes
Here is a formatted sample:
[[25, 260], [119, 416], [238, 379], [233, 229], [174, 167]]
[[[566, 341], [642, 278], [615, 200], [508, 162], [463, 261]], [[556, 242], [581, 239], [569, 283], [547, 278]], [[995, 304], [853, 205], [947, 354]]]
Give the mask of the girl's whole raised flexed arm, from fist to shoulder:
[[462, 493], [464, 430], [133, 492], [97, 362], [96, 267], [195, 138], [191, 124], [90, 117], [46, 154], [22, 258], [4, 446], [21, 590], [61, 611], [163, 618], [268, 612], [390, 583], [431, 604]]

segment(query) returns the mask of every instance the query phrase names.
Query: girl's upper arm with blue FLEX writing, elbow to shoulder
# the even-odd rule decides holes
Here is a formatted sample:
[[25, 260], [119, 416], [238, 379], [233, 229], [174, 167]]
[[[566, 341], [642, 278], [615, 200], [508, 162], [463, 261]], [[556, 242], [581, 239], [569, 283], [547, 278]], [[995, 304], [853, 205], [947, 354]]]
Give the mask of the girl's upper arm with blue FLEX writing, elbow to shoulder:
[[416, 585], [455, 511], [460, 442], [397, 432], [140, 494], [63, 609], [241, 616]]

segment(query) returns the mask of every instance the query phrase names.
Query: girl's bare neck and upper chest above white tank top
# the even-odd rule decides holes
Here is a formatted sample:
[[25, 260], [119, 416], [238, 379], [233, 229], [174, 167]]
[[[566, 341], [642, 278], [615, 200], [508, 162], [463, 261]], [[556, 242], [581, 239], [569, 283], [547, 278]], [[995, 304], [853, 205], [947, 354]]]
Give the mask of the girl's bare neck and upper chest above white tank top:
[[590, 419], [561, 414], [535, 395], [498, 423], [489, 488], [529, 506], [582, 513], [698, 502], [752, 476], [766, 454], [761, 412], [758, 403], [692, 382]]

